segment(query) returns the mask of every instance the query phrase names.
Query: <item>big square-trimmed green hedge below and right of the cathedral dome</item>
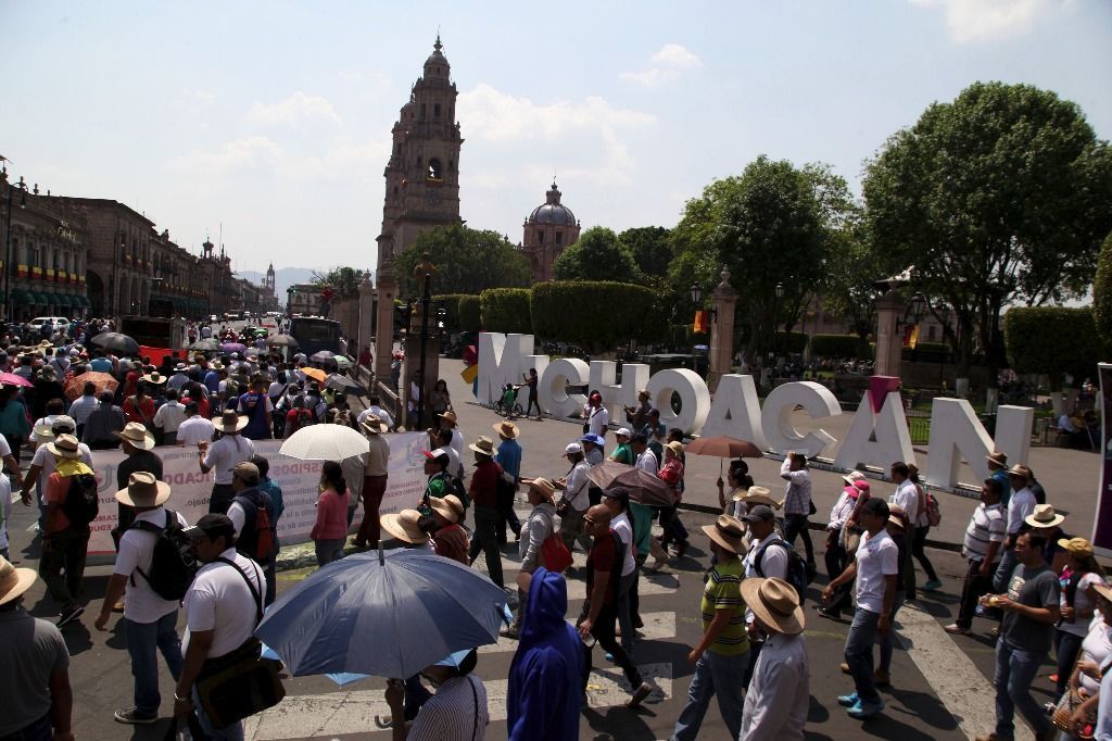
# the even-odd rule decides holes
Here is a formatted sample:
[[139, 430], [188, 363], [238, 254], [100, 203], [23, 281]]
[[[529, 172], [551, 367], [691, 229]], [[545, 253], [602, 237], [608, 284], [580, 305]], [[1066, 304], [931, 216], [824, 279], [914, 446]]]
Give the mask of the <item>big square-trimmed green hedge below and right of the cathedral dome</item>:
[[656, 294], [609, 280], [554, 280], [533, 287], [533, 332], [579, 345], [588, 353], [629, 339], [654, 339], [664, 326]]

